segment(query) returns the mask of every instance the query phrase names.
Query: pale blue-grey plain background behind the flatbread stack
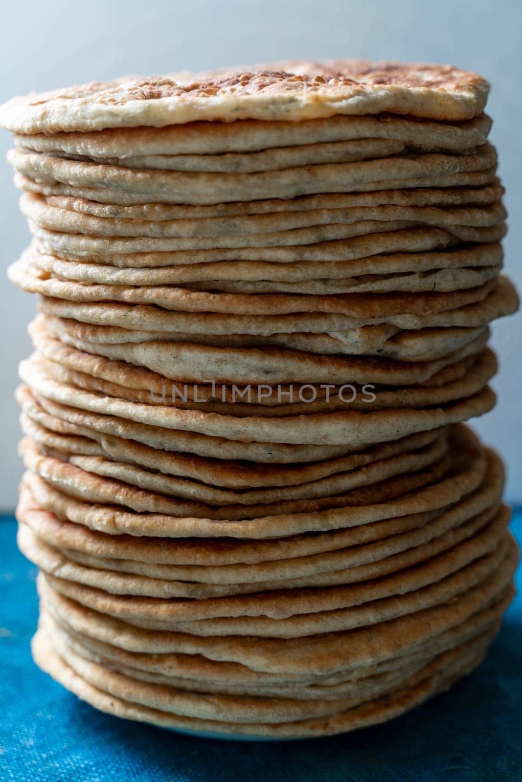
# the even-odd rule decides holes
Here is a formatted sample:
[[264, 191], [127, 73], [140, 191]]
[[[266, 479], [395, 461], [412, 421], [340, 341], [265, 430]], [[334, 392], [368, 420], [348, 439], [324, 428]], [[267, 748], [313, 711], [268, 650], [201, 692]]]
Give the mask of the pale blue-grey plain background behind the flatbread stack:
[[[522, 289], [518, 257], [522, 244], [520, 165], [520, 30], [522, 3], [488, 0], [189, 0], [189, 2], [11, 2], [0, 23], [0, 102], [30, 90], [45, 90], [128, 74], [161, 74], [286, 57], [359, 56], [425, 60], [475, 70], [493, 85], [488, 112], [495, 120], [507, 188], [510, 231], [506, 265]], [[29, 240], [17, 210], [17, 192], [0, 134], [0, 216], [5, 267]], [[12, 511], [21, 466], [16, 457], [18, 411], [13, 401], [16, 364], [30, 352], [26, 326], [35, 297], [4, 281], [2, 318], [2, 449], [0, 511]], [[522, 501], [522, 348], [520, 315], [495, 326], [502, 362], [495, 380], [499, 407], [476, 424], [498, 447], [509, 468], [507, 495]]]

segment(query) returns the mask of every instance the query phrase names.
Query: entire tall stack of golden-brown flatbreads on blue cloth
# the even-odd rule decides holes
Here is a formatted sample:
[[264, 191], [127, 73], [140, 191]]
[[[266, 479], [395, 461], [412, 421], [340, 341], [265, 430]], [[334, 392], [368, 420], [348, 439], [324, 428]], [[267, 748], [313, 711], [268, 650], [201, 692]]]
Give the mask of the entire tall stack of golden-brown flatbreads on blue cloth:
[[443, 691], [513, 595], [489, 324], [517, 309], [450, 66], [295, 61], [13, 99], [34, 658], [177, 730], [335, 734]]

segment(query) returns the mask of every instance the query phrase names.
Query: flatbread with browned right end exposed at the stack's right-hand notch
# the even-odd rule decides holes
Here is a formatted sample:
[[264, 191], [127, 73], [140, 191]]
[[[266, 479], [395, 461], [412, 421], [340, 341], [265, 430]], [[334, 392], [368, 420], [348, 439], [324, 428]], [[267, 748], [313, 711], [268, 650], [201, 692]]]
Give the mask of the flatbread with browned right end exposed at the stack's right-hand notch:
[[[460, 443], [457, 441], [454, 446], [455, 474], [450, 471], [445, 475], [450, 465], [443, 463], [438, 469], [433, 467], [420, 472], [416, 478], [409, 476], [402, 485], [398, 479], [394, 479], [390, 482], [390, 486], [383, 482], [382, 485], [374, 487], [373, 491], [355, 490], [351, 495], [348, 494], [337, 508], [328, 508], [326, 503], [327, 509], [322, 509], [323, 506], [319, 502], [314, 510], [278, 514], [278, 508], [275, 507], [269, 511], [269, 515], [258, 518], [248, 518], [245, 508], [239, 509], [236, 520], [223, 519], [222, 513], [218, 511], [214, 511], [213, 515], [218, 518], [221, 516], [221, 520], [204, 517], [182, 518], [162, 513], [136, 514], [114, 508], [113, 505], [90, 505], [52, 488], [36, 476], [33, 479], [29, 475], [27, 479], [30, 480], [31, 490], [43, 508], [71, 521], [85, 524], [91, 529], [99, 529], [110, 534], [129, 533], [165, 537], [229, 536], [251, 537], [257, 540], [358, 526], [383, 518], [396, 518], [443, 508], [452, 501], [462, 498], [463, 494], [477, 488], [477, 479], [484, 478], [487, 461], [484, 453], [480, 451], [477, 453], [477, 444], [473, 444], [473, 439], [470, 439], [466, 430], [459, 430], [459, 432], [464, 439]], [[437, 482], [437, 479], [441, 480]], [[430, 485], [430, 482], [433, 482], [433, 485]], [[419, 487], [416, 491], [415, 483]], [[95, 482], [95, 486], [100, 485], [99, 480]], [[74, 486], [71, 486], [71, 490], [74, 491]], [[446, 493], [441, 496], [444, 490]], [[408, 497], [397, 499], [405, 492], [409, 492]], [[77, 493], [81, 493], [81, 488]], [[456, 493], [454, 500], [452, 500], [452, 493]], [[241, 518], [242, 515], [245, 518]]]

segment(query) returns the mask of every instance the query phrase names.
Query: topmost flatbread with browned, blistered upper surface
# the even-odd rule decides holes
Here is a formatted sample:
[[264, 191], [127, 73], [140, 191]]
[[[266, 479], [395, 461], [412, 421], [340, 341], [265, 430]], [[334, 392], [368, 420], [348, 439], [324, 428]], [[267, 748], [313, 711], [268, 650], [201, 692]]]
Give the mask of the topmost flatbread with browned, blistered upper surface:
[[335, 114], [410, 114], [470, 120], [488, 82], [448, 65], [290, 60], [207, 74], [92, 82], [13, 98], [0, 124], [23, 134], [197, 120], [311, 120]]

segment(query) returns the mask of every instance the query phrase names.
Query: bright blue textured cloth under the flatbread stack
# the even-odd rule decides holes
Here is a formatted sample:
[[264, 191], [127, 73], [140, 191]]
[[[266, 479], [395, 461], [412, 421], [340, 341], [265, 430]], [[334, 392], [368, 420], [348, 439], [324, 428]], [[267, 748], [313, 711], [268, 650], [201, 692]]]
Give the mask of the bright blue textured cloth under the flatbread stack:
[[[513, 522], [522, 538], [522, 510]], [[313, 741], [211, 741], [95, 711], [31, 661], [36, 569], [0, 519], [0, 779], [16, 782], [520, 782], [522, 599], [476, 673], [391, 723]], [[520, 587], [520, 579], [519, 579]]]

